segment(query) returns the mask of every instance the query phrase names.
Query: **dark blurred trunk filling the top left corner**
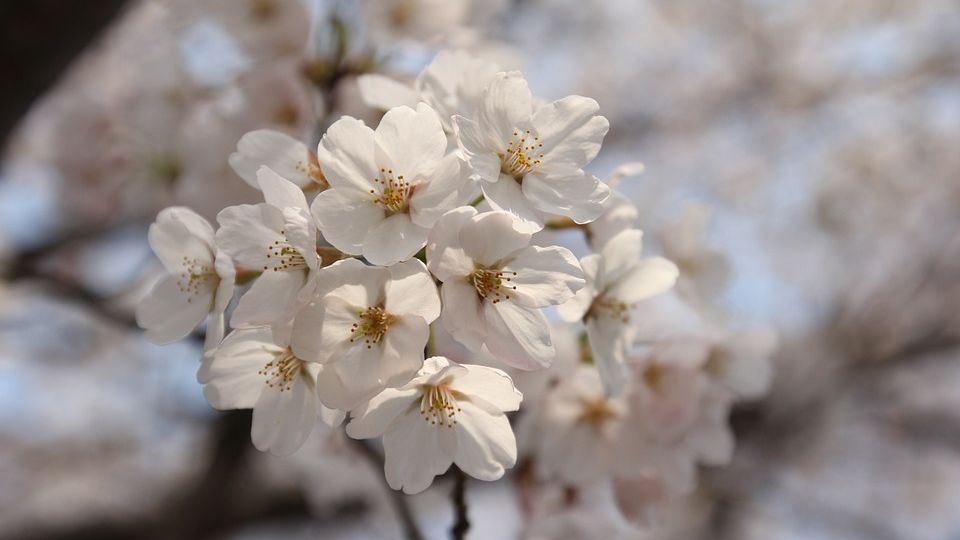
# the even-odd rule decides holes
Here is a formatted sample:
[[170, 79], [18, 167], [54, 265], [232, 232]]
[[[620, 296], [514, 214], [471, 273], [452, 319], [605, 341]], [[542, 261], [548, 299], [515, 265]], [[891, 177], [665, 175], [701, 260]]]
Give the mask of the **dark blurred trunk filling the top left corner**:
[[[120, 13], [127, 0], [0, 2], [0, 151], [31, 104]], [[14, 82], [15, 81], [15, 82]]]

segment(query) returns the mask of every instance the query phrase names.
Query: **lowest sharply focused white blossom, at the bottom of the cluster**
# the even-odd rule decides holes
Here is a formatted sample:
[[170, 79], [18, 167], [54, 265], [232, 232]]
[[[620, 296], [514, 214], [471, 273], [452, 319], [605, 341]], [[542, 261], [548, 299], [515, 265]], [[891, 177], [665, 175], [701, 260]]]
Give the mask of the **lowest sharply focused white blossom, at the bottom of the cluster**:
[[428, 358], [417, 377], [387, 389], [351, 413], [347, 434], [383, 435], [384, 472], [393, 489], [419, 493], [452, 463], [480, 480], [496, 480], [517, 461], [504, 414], [523, 396], [494, 368]]

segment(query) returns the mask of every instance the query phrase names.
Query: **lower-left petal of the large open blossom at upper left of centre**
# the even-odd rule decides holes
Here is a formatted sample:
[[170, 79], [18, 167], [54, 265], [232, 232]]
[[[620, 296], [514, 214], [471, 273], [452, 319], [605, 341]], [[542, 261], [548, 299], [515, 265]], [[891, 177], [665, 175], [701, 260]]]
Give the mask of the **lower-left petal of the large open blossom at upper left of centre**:
[[367, 232], [385, 219], [383, 208], [368, 196], [338, 189], [317, 195], [310, 211], [327, 242], [351, 255], [363, 251]]

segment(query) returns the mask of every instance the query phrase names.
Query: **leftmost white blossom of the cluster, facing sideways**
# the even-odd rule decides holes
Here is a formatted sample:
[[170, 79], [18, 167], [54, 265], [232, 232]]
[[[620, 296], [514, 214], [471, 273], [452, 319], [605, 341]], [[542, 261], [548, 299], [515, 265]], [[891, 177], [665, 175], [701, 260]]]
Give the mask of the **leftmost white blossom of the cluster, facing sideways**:
[[189, 208], [171, 207], [150, 225], [149, 240], [167, 274], [137, 306], [137, 324], [147, 339], [168, 343], [186, 337], [210, 314], [207, 344], [216, 345], [233, 297], [234, 267], [214, 246], [213, 227]]

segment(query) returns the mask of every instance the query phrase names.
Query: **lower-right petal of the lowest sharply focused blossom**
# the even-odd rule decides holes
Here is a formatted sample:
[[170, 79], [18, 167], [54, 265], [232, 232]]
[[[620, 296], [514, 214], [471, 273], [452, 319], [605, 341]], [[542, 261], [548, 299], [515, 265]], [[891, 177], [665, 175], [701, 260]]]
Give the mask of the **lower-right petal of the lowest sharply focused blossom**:
[[454, 463], [470, 476], [492, 481], [517, 462], [517, 440], [503, 414], [491, 415], [470, 402], [458, 402]]

